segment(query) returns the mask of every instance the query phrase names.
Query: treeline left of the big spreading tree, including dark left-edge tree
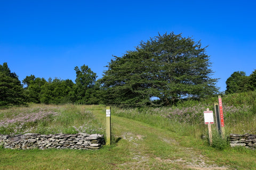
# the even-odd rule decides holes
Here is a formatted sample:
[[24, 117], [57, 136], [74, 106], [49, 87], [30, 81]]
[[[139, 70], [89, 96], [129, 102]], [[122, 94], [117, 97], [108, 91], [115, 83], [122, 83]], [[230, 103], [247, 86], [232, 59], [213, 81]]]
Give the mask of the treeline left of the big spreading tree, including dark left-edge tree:
[[44, 104], [99, 104], [99, 84], [97, 75], [83, 65], [75, 67], [75, 83], [69, 79], [58, 78], [47, 81], [29, 75], [22, 83], [17, 74], [12, 73], [7, 63], [0, 65], [0, 107], [26, 105], [26, 103]]

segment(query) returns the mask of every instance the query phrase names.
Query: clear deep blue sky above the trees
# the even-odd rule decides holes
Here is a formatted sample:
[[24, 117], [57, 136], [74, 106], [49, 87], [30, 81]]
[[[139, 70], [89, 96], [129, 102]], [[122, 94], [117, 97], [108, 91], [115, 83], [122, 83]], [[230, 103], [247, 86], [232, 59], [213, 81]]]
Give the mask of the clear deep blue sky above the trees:
[[121, 57], [158, 32], [201, 40], [217, 86], [235, 71], [256, 69], [256, 1], [0, 0], [0, 64], [27, 75], [75, 80], [88, 65], [101, 78]]

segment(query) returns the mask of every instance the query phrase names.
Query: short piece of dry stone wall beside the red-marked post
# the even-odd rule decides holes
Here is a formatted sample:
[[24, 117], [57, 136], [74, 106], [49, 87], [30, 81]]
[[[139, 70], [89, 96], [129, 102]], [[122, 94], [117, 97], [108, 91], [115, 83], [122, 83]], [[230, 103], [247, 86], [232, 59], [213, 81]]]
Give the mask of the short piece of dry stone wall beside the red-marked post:
[[231, 147], [242, 146], [246, 148], [256, 149], [255, 134], [230, 134], [229, 141]]

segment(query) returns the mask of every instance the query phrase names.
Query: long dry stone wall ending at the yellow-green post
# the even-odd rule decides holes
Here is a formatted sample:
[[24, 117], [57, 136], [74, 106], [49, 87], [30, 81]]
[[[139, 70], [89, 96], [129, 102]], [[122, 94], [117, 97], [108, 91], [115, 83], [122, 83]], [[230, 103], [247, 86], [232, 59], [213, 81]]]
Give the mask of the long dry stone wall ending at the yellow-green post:
[[99, 149], [104, 144], [101, 134], [0, 134], [0, 146], [10, 149]]

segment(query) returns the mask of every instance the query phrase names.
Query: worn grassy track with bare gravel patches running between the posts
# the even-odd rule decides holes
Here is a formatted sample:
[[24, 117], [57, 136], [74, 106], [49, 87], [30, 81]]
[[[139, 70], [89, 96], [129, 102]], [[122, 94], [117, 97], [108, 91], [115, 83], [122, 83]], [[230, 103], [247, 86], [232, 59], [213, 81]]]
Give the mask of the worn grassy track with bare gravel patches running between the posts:
[[[104, 120], [104, 114], [95, 115]], [[171, 138], [172, 132], [118, 116], [111, 116], [111, 126], [116, 148], [129, 153], [129, 161], [115, 169], [229, 169], [214, 164], [199, 150], [181, 146]]]

